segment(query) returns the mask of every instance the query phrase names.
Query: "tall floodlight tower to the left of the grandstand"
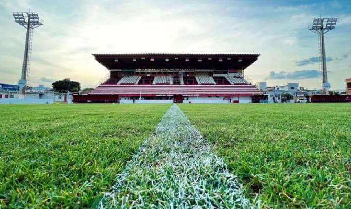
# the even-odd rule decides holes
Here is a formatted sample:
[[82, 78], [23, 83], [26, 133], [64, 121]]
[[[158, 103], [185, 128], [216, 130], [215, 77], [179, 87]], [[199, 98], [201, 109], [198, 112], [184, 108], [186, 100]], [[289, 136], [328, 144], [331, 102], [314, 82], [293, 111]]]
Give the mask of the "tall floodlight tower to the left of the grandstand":
[[32, 51], [32, 37], [33, 29], [43, 25], [36, 12], [13, 12], [15, 22], [27, 29], [26, 42], [24, 45], [24, 57], [22, 65], [22, 75], [18, 82], [20, 86], [21, 97], [24, 98], [25, 90], [27, 87], [28, 74], [30, 70], [30, 57]]

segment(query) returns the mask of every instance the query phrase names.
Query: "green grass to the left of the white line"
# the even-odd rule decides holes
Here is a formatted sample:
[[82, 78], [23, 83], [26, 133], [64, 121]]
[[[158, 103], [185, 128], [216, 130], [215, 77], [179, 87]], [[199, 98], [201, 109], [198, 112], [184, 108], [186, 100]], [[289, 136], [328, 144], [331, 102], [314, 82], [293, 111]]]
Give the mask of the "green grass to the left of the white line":
[[169, 107], [0, 105], [0, 208], [95, 206]]

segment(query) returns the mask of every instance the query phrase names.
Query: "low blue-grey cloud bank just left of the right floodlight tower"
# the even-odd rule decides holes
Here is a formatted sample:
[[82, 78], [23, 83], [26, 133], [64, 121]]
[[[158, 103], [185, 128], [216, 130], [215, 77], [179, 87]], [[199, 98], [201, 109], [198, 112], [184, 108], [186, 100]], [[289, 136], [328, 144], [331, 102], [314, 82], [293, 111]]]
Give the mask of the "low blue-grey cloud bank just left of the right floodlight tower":
[[271, 71], [267, 79], [306, 79], [318, 78], [320, 73], [318, 70], [296, 70], [293, 72], [274, 72]]

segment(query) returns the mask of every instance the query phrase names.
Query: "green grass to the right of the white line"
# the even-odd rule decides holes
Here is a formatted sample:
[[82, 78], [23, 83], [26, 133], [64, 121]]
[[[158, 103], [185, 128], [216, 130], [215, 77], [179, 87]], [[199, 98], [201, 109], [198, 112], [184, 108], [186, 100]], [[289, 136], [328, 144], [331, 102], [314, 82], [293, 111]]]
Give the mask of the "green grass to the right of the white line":
[[351, 104], [181, 104], [262, 208], [351, 208]]

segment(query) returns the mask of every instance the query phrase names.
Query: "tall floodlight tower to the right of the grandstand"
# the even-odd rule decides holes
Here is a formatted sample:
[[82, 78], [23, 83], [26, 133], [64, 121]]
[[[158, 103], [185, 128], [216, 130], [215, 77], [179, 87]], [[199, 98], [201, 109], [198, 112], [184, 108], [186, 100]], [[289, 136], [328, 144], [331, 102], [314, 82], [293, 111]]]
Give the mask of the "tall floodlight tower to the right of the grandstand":
[[319, 35], [319, 49], [320, 49], [320, 58], [322, 64], [322, 77], [323, 77], [323, 93], [328, 94], [330, 84], [327, 79], [327, 63], [325, 56], [325, 47], [324, 47], [324, 34], [332, 30], [336, 26], [337, 18], [314, 18], [312, 26], [309, 27], [309, 30]]

